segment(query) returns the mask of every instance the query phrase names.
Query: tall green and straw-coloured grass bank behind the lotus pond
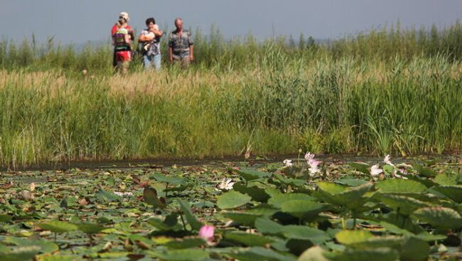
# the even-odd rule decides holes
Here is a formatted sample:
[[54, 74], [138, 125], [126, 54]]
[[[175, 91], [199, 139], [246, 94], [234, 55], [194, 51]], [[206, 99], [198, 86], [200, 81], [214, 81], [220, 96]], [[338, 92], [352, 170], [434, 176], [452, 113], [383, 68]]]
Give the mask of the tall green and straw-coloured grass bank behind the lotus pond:
[[4, 42], [0, 164], [460, 150], [462, 67], [452, 45], [460, 28], [436, 32], [434, 42], [416, 38], [412, 48], [412, 30], [295, 46], [198, 34], [190, 70], [134, 68], [127, 77], [112, 76], [109, 48], [39, 54], [24, 43], [32, 58], [21, 63], [28, 52]]

